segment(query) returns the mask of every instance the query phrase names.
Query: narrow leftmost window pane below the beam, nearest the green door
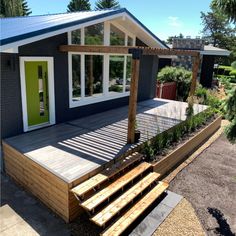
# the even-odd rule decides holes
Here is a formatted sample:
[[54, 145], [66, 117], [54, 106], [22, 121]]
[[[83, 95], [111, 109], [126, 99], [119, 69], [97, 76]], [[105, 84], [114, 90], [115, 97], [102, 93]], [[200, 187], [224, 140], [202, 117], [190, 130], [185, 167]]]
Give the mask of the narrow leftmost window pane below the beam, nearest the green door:
[[81, 97], [80, 55], [72, 55], [72, 100]]

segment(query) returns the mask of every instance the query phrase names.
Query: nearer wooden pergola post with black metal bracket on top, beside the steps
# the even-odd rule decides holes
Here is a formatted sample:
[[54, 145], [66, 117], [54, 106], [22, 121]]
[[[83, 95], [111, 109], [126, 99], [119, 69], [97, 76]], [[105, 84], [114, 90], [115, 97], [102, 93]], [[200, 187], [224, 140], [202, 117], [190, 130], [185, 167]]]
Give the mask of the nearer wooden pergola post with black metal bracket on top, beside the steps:
[[135, 138], [135, 121], [136, 121], [136, 108], [138, 96], [138, 80], [139, 80], [139, 65], [142, 49], [130, 49], [132, 53], [132, 75], [130, 82], [130, 97], [129, 97], [129, 114], [128, 114], [128, 135], [127, 143], [134, 143]]

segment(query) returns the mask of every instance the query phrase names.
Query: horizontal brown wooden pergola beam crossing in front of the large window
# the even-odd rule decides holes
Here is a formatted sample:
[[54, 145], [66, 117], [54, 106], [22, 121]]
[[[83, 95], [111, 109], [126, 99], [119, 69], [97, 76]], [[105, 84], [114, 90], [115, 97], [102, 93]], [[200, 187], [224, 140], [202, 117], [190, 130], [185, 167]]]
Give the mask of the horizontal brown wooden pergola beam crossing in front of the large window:
[[61, 52], [91, 52], [91, 53], [115, 53], [129, 54], [130, 47], [123, 46], [94, 46], [94, 45], [61, 45]]

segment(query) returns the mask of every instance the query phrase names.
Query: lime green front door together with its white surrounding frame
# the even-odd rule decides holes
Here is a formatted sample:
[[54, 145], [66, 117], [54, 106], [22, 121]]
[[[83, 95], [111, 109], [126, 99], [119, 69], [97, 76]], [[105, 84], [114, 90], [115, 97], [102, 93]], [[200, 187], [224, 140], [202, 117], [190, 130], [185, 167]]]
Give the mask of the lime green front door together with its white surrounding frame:
[[50, 62], [50, 59], [21, 58], [24, 131], [55, 123], [54, 114], [51, 114], [54, 113], [54, 107], [51, 108], [54, 88], [50, 88], [53, 80]]

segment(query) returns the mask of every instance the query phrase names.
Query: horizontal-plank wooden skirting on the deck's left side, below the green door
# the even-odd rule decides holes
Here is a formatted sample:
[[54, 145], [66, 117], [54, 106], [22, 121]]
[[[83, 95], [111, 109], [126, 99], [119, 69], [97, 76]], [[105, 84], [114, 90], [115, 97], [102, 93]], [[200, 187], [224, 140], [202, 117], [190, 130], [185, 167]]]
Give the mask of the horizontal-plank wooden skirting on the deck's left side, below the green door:
[[54, 213], [69, 222], [82, 212], [70, 184], [3, 142], [6, 173]]

